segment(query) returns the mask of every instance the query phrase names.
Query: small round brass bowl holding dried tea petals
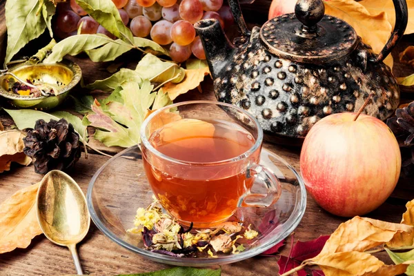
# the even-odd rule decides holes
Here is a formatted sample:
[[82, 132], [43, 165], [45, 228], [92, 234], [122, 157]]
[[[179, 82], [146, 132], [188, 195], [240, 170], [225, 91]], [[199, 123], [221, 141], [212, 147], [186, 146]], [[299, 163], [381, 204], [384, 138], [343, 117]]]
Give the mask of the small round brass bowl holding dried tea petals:
[[59, 106], [69, 91], [81, 80], [81, 68], [72, 61], [63, 60], [59, 63], [21, 63], [8, 70], [23, 81], [31, 83], [41, 82], [46, 86], [50, 85], [56, 88], [53, 95], [19, 95], [8, 89], [8, 79], [10, 74], [0, 77], [0, 95], [7, 98], [12, 106], [18, 108], [31, 108], [36, 110], [48, 110]]

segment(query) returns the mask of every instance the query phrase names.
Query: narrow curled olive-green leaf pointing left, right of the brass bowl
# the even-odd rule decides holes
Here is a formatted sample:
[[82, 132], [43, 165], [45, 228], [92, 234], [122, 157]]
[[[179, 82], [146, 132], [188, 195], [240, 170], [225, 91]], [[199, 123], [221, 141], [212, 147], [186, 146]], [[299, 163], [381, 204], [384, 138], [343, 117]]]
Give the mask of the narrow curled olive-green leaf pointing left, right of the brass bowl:
[[141, 77], [139, 77], [136, 71], [127, 68], [122, 68], [121, 70], [116, 72], [114, 75], [108, 77], [107, 79], [102, 79], [99, 81], [95, 81], [94, 83], [90, 83], [87, 86], [85, 86], [85, 88], [110, 92], [118, 86], [121, 86], [122, 83], [125, 83], [127, 81], [141, 83], [142, 79]]

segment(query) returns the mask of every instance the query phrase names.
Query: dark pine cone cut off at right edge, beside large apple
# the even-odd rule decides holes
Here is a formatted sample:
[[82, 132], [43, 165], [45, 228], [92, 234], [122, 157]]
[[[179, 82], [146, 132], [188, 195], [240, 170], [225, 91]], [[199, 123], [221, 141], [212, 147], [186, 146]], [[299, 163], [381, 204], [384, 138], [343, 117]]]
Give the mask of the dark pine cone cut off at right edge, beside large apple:
[[405, 108], [395, 111], [386, 124], [393, 131], [400, 145], [402, 171], [407, 176], [414, 175], [414, 101]]

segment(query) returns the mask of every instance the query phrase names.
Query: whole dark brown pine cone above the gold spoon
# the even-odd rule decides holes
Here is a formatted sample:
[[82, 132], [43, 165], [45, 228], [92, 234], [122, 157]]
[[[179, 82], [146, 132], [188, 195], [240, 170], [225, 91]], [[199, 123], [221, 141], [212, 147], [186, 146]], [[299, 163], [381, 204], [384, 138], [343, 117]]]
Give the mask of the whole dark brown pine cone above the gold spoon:
[[65, 119], [51, 119], [49, 123], [37, 120], [23, 141], [23, 152], [34, 157], [34, 171], [40, 174], [49, 170], [67, 170], [81, 157], [79, 135]]

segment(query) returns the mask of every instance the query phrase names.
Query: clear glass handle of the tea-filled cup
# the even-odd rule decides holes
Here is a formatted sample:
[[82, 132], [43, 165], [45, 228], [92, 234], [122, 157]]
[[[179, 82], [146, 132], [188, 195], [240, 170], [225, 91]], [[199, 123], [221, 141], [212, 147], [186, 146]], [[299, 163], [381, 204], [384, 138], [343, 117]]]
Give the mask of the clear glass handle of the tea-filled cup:
[[[265, 166], [253, 164], [248, 166], [246, 177], [255, 177], [266, 187], [267, 193], [251, 193], [251, 188], [239, 198], [237, 207], [268, 207], [279, 199], [282, 185], [276, 175]], [[253, 183], [253, 186], [255, 183]], [[252, 186], [252, 188], [253, 188]]]

